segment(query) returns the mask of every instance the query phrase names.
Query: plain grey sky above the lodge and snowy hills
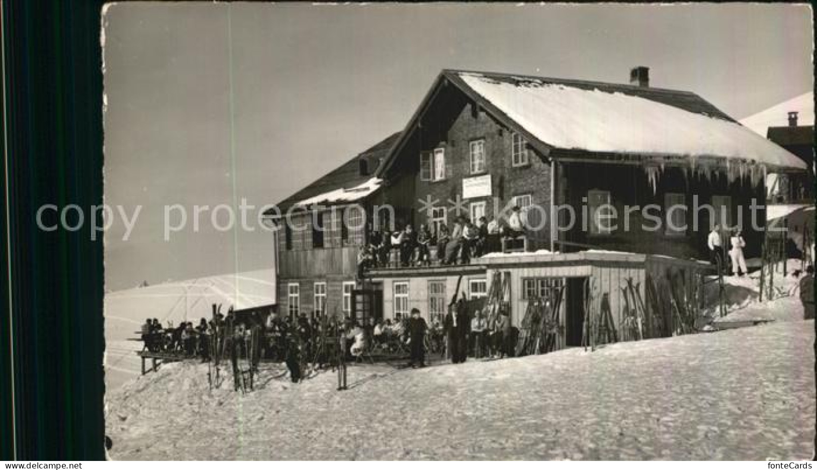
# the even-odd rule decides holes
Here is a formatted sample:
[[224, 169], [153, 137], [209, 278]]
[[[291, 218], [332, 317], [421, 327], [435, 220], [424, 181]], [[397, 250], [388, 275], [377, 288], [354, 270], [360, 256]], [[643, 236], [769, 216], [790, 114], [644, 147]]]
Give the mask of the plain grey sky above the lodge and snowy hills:
[[[127, 2], [103, 29], [109, 290], [272, 267], [257, 209], [401, 130], [440, 69], [627, 83], [645, 65], [734, 119], [814, 87], [806, 5]], [[242, 199], [255, 231], [213, 226]], [[132, 231], [118, 206], [141, 206]]]

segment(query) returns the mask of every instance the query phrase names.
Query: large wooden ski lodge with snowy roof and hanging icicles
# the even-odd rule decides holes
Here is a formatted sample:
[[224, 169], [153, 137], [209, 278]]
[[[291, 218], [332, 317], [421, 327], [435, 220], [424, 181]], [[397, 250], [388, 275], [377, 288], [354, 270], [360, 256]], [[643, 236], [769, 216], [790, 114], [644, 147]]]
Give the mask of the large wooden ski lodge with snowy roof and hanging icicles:
[[[361, 210], [351, 213], [365, 213], [368, 224], [377, 214], [380, 226], [436, 227], [459, 215], [502, 218], [517, 205], [535, 256], [378, 268], [355, 284], [355, 247], [368, 230], [326, 235], [290, 227], [279, 237], [282, 310], [392, 318], [417, 307], [431, 319], [454, 289], [483, 297], [501, 270], [519, 301], [511, 302], [516, 325], [527, 298], [566, 285], [560, 323], [565, 338], [573, 325], [575, 338], [583, 280], [597, 281], [591, 284], [618, 312], [623, 283], [632, 278], [643, 289], [650, 270], [661, 279], [682, 271], [694, 283], [708, 269], [698, 260], [707, 258], [712, 223], [741, 224], [748, 254], [756, 253], [761, 233], [752, 230], [750, 205], [762, 204], [766, 173], [802, 172], [806, 164], [692, 92], [650, 87], [648, 74], [638, 67], [630, 84], [618, 84], [443, 70], [402, 132], [288, 198], [281, 210], [322, 204], [328, 208], [310, 221], [332, 226], [342, 217], [332, 208], [354, 206]], [[689, 211], [668, 211], [679, 204]], [[703, 204], [715, 211], [694, 211]], [[551, 212], [559, 206], [573, 208], [574, 217]], [[392, 210], [379, 212], [383, 207]], [[613, 211], [616, 221], [606, 222]], [[595, 254], [577, 254], [589, 252]]]

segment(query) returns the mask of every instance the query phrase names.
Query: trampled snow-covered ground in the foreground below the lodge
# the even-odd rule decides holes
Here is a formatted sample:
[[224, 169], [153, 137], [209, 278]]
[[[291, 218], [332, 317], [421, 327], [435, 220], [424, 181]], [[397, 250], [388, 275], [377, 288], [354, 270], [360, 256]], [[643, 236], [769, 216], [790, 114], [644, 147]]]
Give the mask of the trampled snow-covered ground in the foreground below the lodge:
[[814, 321], [426, 369], [208, 389], [163, 366], [108, 396], [114, 459], [810, 459]]

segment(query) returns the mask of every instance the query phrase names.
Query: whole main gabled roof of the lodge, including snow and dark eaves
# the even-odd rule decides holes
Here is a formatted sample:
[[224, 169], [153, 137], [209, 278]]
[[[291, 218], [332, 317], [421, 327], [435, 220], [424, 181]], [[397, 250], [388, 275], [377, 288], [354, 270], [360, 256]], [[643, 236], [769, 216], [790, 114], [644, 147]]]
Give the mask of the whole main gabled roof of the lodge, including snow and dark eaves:
[[726, 165], [804, 168], [700, 96], [676, 90], [516, 74], [443, 70], [378, 172], [386, 173], [441, 87], [453, 84], [544, 155], [716, 159]]

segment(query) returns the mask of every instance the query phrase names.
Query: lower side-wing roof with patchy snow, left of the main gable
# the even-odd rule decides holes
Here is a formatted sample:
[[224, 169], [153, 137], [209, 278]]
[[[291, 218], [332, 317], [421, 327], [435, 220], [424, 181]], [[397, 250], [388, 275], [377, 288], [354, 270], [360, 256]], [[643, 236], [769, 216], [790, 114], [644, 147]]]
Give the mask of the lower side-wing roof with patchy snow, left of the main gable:
[[[385, 158], [391, 145], [397, 140], [399, 132], [395, 132], [382, 141], [377, 142], [368, 150], [364, 150], [360, 154], [355, 155], [346, 163], [326, 173], [323, 177], [312, 181], [309, 185], [301, 190], [298, 190], [294, 195], [283, 199], [278, 204], [281, 213], [285, 213], [293, 205], [308, 205], [308, 204], [330, 204], [333, 202], [342, 202], [348, 200], [361, 199], [366, 195], [372, 194], [379, 188], [375, 186], [372, 181], [375, 168], [374, 165]], [[360, 175], [359, 160], [367, 159], [369, 172], [367, 176]], [[348, 195], [347, 195], [348, 194]], [[345, 195], [347, 195], [345, 197]], [[272, 211], [267, 211], [269, 215]]]

